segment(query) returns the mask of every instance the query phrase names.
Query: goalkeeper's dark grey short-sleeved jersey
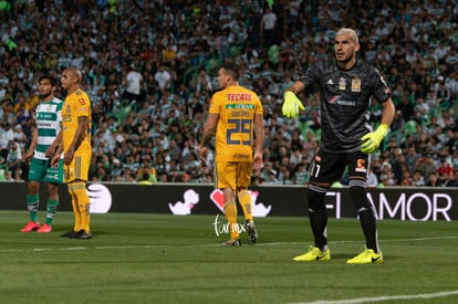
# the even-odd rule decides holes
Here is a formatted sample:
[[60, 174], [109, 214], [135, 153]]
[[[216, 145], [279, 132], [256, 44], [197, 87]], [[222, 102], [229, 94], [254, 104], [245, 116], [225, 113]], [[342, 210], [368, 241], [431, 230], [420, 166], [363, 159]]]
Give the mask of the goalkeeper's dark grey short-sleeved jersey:
[[389, 88], [379, 72], [360, 60], [351, 70], [337, 67], [334, 57], [319, 61], [301, 82], [320, 90], [321, 144], [325, 151], [356, 151], [361, 137], [372, 132], [371, 98], [389, 99]]

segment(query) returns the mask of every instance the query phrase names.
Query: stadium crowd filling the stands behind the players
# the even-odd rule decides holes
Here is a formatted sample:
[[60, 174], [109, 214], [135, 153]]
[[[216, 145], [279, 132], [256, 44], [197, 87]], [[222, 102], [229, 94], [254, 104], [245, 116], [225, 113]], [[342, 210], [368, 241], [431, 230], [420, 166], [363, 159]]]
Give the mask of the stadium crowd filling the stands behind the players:
[[[306, 184], [318, 93], [300, 95], [306, 109], [296, 119], [282, 116], [282, 93], [332, 53], [345, 25], [397, 109], [368, 186], [458, 186], [456, 0], [23, 0], [0, 1], [0, 18], [2, 180], [27, 178], [38, 77], [72, 65], [93, 103], [91, 180], [212, 182], [212, 157], [201, 164], [196, 147], [218, 65], [231, 59], [264, 107], [264, 167], [253, 185]], [[375, 101], [371, 114], [376, 124]]]

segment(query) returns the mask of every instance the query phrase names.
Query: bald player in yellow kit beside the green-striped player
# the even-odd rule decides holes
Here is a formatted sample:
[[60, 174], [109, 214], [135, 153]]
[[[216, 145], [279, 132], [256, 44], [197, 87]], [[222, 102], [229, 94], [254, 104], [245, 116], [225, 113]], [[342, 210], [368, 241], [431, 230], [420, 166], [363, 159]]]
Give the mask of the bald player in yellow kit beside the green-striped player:
[[91, 239], [90, 199], [86, 192], [92, 147], [90, 141], [91, 101], [80, 88], [81, 71], [65, 69], [62, 73], [62, 87], [66, 97], [62, 107], [62, 143], [53, 157], [64, 153], [64, 179], [72, 198], [75, 223], [73, 230], [62, 234], [74, 239]]

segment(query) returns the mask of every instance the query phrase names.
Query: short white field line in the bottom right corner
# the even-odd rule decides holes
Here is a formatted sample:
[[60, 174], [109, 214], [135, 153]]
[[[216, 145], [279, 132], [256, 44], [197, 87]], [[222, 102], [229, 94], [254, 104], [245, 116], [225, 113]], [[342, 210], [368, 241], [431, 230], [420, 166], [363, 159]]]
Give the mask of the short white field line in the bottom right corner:
[[382, 301], [436, 298], [436, 297], [446, 297], [446, 296], [451, 296], [451, 295], [458, 295], [458, 291], [405, 294], [405, 295], [387, 295], [387, 296], [375, 296], [375, 297], [356, 297], [356, 298], [346, 298], [346, 300], [336, 300], [336, 301], [298, 302], [298, 303], [291, 303], [291, 304], [358, 304], [358, 303], [382, 302]]

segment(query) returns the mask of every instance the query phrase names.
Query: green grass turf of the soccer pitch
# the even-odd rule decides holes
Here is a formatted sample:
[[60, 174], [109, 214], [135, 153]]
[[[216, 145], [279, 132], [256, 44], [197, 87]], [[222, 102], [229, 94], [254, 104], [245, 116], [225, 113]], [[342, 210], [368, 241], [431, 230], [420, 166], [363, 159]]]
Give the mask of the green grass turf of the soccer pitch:
[[[456, 221], [379, 221], [385, 263], [371, 265], [346, 264], [364, 247], [355, 219], [330, 220], [327, 263], [292, 261], [311, 244], [306, 218], [258, 218], [259, 243], [243, 233], [241, 248], [220, 245], [215, 216], [94, 214], [92, 240], [59, 237], [70, 212], [52, 233], [19, 232], [27, 221], [0, 211], [1, 303], [458, 303]], [[454, 294], [418, 297], [439, 292]]]

